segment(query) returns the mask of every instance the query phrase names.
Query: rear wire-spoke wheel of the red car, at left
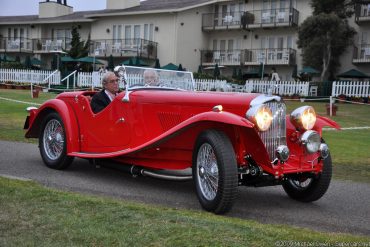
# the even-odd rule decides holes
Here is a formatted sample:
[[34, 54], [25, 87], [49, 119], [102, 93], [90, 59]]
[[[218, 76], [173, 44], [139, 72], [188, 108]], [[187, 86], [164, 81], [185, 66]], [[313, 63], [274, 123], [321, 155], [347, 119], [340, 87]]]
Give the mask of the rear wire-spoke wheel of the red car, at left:
[[42, 160], [50, 168], [62, 170], [73, 161], [73, 157], [67, 156], [63, 121], [55, 112], [49, 113], [42, 123], [39, 147]]

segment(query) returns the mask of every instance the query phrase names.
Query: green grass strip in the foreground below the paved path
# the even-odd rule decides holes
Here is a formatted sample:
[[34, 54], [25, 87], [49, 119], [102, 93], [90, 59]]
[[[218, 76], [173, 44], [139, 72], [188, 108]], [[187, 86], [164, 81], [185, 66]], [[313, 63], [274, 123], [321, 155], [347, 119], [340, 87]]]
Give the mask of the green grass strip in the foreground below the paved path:
[[339, 246], [370, 242], [369, 237], [60, 192], [1, 177], [0, 202], [0, 246], [293, 246], [278, 245], [279, 241]]

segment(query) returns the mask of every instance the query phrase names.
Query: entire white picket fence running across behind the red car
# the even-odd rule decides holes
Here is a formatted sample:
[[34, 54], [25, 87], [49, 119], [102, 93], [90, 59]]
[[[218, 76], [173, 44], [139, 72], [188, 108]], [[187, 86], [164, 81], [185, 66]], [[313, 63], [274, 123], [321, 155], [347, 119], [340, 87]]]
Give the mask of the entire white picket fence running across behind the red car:
[[[44, 80], [48, 78], [47, 83], [51, 85], [59, 85], [61, 81], [60, 72], [57, 71], [53, 74], [53, 71], [40, 71], [40, 70], [13, 70], [13, 69], [0, 69], [0, 81], [1, 82], [24, 82], [24, 83], [34, 83], [41, 84], [45, 83]], [[102, 87], [103, 74], [99, 72], [79, 72], [77, 76], [78, 87]], [[142, 75], [129, 75], [128, 83], [129, 85], [141, 84], [143, 81]], [[309, 82], [289, 82], [289, 81], [247, 81], [246, 84], [236, 85], [227, 83], [225, 80], [207, 80], [207, 79], [196, 79], [195, 89], [197, 91], [224, 91], [224, 92], [257, 92], [257, 93], [268, 93], [272, 90], [273, 94], [278, 95], [293, 95], [298, 94], [300, 96], [308, 96], [309, 94]], [[166, 81], [165, 84], [169, 86], [176, 86], [173, 81]], [[191, 85], [191, 83], [189, 83]], [[124, 85], [121, 83], [120, 87]], [[352, 89], [348, 89], [352, 87]], [[362, 88], [361, 90], [358, 88]], [[337, 89], [339, 88], [339, 89]], [[189, 88], [191, 89], [191, 88]], [[366, 91], [367, 90], [367, 91]], [[366, 96], [369, 94], [369, 82], [367, 84], [356, 84], [347, 82], [347, 84], [342, 85], [338, 82], [333, 84], [333, 96], [339, 94], [348, 94], [348, 96]]]

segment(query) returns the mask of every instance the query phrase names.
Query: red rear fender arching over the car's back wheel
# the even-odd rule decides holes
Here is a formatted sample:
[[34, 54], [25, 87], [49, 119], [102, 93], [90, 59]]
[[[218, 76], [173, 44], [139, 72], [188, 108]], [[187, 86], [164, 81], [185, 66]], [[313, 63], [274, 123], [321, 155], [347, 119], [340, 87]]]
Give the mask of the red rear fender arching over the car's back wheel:
[[51, 99], [46, 101], [42, 106], [34, 112], [35, 116], [30, 123], [25, 137], [38, 138], [40, 136], [42, 121], [50, 113], [57, 112], [62, 118], [67, 140], [67, 153], [78, 152], [79, 145], [79, 125], [72, 107], [65, 101], [59, 99]]

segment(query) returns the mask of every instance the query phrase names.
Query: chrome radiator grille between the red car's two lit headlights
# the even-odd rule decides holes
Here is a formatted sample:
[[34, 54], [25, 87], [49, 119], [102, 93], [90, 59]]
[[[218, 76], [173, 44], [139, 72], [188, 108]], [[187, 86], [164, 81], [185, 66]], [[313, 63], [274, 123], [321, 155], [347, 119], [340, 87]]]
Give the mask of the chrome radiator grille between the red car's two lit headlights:
[[282, 102], [270, 101], [265, 103], [271, 109], [273, 120], [271, 127], [265, 132], [259, 132], [271, 161], [275, 160], [275, 151], [279, 145], [286, 145], [286, 107]]

